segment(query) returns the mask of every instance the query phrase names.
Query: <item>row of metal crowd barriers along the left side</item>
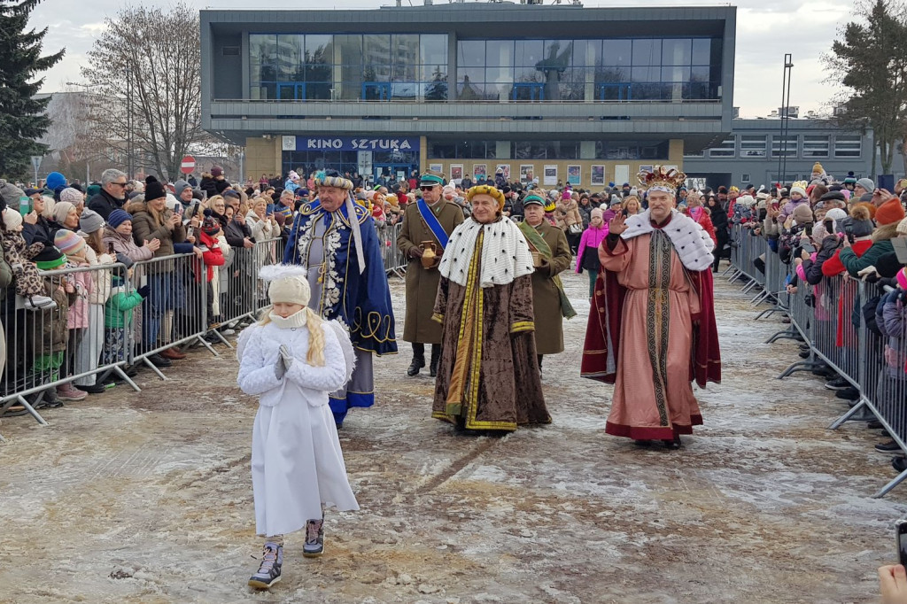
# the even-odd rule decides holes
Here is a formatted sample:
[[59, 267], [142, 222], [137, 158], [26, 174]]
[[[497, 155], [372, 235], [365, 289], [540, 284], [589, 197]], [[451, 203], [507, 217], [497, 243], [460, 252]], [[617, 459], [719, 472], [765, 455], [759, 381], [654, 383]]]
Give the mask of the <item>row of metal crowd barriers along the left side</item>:
[[[406, 258], [396, 245], [401, 225], [378, 228], [385, 273], [402, 277]], [[116, 378], [140, 388], [127, 368], [145, 365], [167, 379], [152, 362], [174, 346], [232, 347], [229, 326], [251, 322], [268, 305], [267, 283], [258, 269], [283, 259], [282, 239], [233, 248], [223, 266], [209, 267], [196, 254], [175, 254], [135, 262], [39, 271], [57, 306], [30, 310], [12, 291], [0, 302], [6, 362], [0, 375], [0, 417], [22, 405], [39, 424], [36, 407], [67, 385], [93, 386]], [[103, 284], [92, 296], [89, 284]], [[73, 321], [70, 307], [79, 307]], [[58, 388], [59, 387], [59, 388]], [[64, 391], [65, 392], [65, 391]], [[3, 436], [0, 434], [0, 442]]]

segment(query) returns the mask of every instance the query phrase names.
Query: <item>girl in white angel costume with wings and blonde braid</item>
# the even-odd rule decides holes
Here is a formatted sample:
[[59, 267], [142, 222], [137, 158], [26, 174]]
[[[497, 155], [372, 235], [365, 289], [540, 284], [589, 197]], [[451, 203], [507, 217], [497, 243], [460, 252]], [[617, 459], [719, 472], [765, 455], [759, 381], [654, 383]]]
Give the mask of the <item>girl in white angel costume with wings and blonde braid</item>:
[[342, 326], [307, 307], [305, 268], [271, 265], [271, 306], [239, 338], [239, 387], [258, 396], [252, 428], [252, 489], [256, 532], [266, 536], [261, 565], [249, 586], [280, 580], [283, 536], [306, 528], [303, 556], [324, 551], [324, 506], [358, 510], [327, 394], [346, 384], [353, 348]]

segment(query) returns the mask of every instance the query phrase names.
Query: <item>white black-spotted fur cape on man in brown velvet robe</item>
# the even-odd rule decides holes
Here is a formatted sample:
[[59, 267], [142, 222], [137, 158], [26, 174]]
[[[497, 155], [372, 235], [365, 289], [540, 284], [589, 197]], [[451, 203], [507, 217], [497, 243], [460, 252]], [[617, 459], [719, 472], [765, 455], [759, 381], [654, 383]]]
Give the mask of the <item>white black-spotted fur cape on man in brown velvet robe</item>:
[[479, 287], [507, 285], [515, 278], [532, 275], [532, 253], [526, 239], [511, 219], [504, 216], [490, 224], [466, 219], [453, 229], [448, 251], [438, 267], [442, 277], [466, 286], [480, 233], [484, 237]]

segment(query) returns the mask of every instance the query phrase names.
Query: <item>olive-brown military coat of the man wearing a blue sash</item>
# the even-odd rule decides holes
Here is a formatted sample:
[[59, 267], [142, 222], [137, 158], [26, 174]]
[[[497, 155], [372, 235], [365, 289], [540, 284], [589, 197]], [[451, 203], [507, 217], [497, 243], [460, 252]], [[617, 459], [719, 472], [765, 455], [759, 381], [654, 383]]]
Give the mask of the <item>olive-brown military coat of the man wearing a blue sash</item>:
[[[440, 200], [435, 204], [434, 215], [448, 235], [463, 222], [463, 209], [446, 200]], [[409, 256], [409, 250], [419, 246], [423, 241], [433, 241], [440, 253], [440, 243], [428, 229], [417, 205], [411, 203], [406, 207], [403, 226], [397, 237], [397, 247], [406, 258], [409, 258], [406, 265], [406, 319], [403, 339], [422, 344], [441, 344], [441, 324], [432, 320], [434, 297], [438, 293], [441, 273], [437, 267], [424, 268], [420, 258]]]

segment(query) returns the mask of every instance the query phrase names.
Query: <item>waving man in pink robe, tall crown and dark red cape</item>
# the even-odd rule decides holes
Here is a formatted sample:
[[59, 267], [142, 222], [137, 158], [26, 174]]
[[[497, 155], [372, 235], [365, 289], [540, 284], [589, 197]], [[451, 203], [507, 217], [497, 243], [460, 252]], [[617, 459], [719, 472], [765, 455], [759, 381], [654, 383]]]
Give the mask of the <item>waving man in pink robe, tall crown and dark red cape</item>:
[[675, 209], [686, 175], [641, 172], [649, 209], [618, 212], [599, 249], [581, 375], [614, 384], [607, 434], [680, 446], [702, 414], [690, 382], [721, 380], [705, 229]]

